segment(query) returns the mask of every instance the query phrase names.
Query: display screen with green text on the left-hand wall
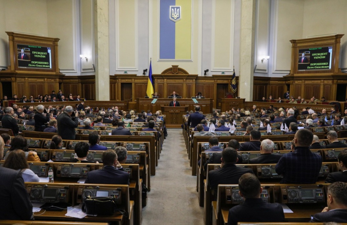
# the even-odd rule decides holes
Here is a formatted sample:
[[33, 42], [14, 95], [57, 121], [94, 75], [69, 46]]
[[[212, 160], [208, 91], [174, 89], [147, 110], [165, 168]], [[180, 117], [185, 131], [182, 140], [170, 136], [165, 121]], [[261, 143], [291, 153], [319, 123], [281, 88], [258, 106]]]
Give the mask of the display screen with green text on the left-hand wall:
[[17, 44], [18, 68], [52, 69], [50, 47]]

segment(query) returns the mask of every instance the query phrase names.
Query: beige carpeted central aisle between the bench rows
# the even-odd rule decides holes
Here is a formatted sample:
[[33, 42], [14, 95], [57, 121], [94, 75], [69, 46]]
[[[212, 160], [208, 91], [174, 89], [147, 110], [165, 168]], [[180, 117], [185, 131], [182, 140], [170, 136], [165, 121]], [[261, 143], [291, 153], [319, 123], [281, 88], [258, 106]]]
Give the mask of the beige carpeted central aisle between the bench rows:
[[203, 207], [196, 192], [196, 176], [191, 175], [181, 129], [168, 129], [151, 191], [143, 208], [142, 225], [203, 225]]

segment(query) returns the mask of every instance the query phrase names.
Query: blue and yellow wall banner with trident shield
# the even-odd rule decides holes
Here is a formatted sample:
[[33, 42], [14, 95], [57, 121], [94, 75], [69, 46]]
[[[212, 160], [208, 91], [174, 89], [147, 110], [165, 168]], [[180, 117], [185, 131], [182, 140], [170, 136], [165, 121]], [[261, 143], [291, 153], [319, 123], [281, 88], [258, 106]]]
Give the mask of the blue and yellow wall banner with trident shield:
[[160, 0], [159, 59], [191, 59], [192, 1]]

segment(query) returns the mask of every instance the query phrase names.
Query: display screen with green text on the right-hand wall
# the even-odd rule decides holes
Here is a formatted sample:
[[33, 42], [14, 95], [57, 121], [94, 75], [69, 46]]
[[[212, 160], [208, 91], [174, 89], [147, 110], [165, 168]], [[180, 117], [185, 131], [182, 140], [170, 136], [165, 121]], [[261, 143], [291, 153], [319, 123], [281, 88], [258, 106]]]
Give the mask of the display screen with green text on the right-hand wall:
[[299, 49], [298, 71], [330, 70], [332, 46]]

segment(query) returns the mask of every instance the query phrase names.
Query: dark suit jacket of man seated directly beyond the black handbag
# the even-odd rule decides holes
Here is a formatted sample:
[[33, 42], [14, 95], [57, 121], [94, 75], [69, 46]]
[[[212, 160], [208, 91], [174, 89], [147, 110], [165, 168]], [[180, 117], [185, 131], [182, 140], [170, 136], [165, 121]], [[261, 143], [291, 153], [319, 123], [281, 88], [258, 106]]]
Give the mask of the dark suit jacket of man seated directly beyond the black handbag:
[[129, 174], [116, 169], [113, 166], [104, 166], [88, 172], [86, 184], [127, 184], [129, 185]]

